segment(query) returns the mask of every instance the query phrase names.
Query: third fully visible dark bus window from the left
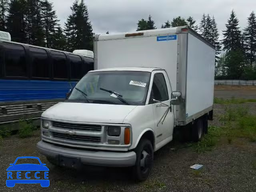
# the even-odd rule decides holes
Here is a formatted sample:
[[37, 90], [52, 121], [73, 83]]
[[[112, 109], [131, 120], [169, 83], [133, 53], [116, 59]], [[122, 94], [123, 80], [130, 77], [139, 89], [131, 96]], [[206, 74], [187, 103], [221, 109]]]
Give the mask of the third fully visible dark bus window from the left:
[[67, 79], [68, 66], [66, 55], [62, 52], [52, 51], [53, 78]]

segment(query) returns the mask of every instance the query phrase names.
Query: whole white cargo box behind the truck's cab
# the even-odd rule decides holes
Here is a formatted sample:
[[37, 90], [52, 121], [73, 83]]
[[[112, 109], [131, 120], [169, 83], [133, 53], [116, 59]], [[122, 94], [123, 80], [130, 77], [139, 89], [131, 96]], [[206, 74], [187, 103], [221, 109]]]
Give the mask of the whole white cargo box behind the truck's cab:
[[98, 35], [94, 68], [155, 67], [166, 70], [172, 90], [182, 92], [175, 124], [186, 125], [212, 110], [215, 48], [187, 27]]

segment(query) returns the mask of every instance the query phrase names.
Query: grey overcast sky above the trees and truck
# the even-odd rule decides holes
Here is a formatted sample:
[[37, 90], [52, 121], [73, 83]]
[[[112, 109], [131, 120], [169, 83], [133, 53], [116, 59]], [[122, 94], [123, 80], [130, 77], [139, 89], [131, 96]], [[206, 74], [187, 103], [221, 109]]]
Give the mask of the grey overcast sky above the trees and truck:
[[[61, 25], [70, 14], [74, 0], [51, 0], [57, 11]], [[95, 33], [131, 32], [136, 30], [141, 18], [151, 14], [156, 27], [160, 28], [166, 20], [176, 16], [194, 17], [199, 23], [202, 14], [214, 15], [220, 35], [225, 23], [234, 9], [241, 29], [247, 24], [252, 10], [256, 11], [256, 0], [85, 0], [90, 21]]]

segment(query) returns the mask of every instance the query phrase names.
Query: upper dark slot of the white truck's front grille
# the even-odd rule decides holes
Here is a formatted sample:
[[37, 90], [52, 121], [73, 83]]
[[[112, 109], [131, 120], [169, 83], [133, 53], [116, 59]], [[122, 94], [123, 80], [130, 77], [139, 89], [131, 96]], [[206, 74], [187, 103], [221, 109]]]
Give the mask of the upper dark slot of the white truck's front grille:
[[52, 122], [52, 126], [61, 127], [73, 130], [86, 130], [86, 131], [101, 131], [100, 125], [88, 125], [88, 124], [73, 124], [73, 123], [63, 123], [63, 122]]

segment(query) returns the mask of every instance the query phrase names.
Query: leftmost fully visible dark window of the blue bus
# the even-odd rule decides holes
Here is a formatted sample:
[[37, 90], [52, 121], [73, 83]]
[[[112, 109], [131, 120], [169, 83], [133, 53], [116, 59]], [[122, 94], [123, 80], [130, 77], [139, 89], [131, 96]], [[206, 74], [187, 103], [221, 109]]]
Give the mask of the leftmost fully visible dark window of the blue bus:
[[18, 44], [3, 43], [6, 76], [26, 77], [27, 64], [24, 47]]

